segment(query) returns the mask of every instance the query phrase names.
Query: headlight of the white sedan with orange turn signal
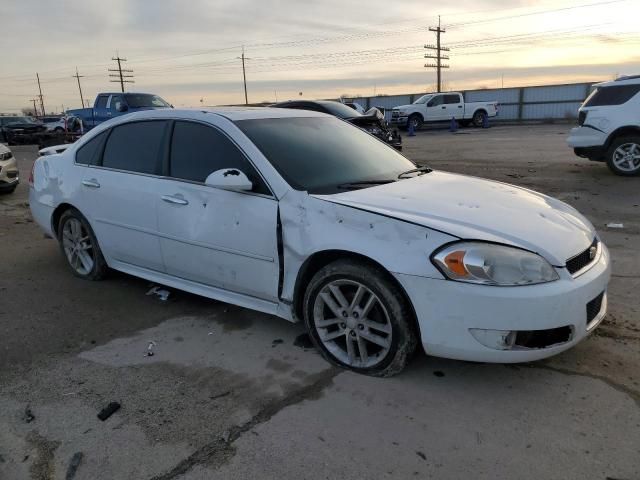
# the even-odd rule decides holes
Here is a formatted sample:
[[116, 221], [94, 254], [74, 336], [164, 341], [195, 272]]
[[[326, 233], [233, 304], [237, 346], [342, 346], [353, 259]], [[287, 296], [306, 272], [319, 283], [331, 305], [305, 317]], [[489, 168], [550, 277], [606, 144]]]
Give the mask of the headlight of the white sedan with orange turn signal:
[[483, 242], [458, 242], [432, 256], [449, 279], [482, 285], [534, 285], [560, 277], [549, 262], [519, 248]]

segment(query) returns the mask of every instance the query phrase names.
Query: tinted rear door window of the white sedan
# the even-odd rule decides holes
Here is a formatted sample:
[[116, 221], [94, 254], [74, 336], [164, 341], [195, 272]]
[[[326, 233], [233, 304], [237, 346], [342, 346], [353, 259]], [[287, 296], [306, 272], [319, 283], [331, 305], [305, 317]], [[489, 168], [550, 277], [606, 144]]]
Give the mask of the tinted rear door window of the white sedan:
[[159, 174], [166, 126], [165, 121], [150, 121], [114, 127], [104, 148], [102, 166]]

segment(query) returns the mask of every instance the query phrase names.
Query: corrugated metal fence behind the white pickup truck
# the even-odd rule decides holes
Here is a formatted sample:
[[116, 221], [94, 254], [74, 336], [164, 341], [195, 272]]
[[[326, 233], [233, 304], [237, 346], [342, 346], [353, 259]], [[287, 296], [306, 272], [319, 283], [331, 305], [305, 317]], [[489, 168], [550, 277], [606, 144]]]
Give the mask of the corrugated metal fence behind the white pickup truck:
[[[573, 120], [578, 108], [591, 92], [593, 83], [570, 83], [535, 87], [496, 88], [463, 91], [467, 102], [497, 101], [500, 113], [496, 120], [508, 122]], [[365, 109], [382, 107], [387, 120], [391, 109], [413, 103], [424, 93], [353, 98]]]

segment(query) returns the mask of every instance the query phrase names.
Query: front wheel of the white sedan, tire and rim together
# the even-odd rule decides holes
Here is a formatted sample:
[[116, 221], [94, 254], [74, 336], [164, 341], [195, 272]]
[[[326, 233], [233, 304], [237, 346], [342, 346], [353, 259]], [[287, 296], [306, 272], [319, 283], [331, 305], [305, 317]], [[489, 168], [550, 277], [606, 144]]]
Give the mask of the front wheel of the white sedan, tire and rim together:
[[320, 269], [304, 295], [305, 323], [322, 356], [365, 375], [404, 369], [417, 346], [412, 315], [385, 272], [353, 260]]

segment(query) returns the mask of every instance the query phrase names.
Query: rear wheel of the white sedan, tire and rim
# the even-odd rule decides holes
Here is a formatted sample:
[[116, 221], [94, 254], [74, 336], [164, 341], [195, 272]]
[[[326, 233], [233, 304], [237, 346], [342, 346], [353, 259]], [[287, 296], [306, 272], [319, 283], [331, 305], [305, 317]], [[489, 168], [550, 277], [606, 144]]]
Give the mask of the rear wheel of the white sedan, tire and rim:
[[101, 280], [107, 274], [98, 240], [89, 222], [76, 209], [66, 210], [58, 222], [58, 243], [73, 274], [85, 280]]

